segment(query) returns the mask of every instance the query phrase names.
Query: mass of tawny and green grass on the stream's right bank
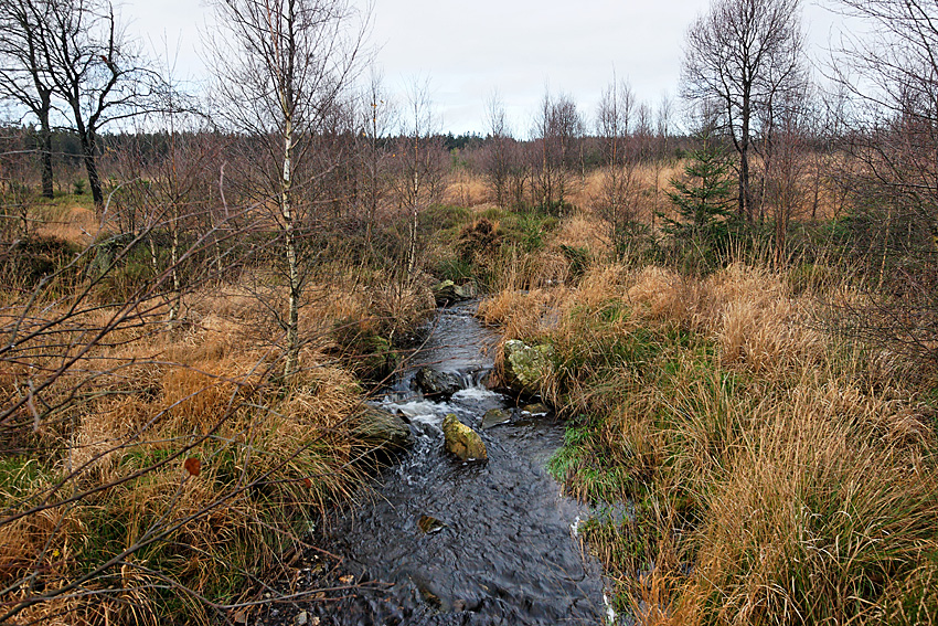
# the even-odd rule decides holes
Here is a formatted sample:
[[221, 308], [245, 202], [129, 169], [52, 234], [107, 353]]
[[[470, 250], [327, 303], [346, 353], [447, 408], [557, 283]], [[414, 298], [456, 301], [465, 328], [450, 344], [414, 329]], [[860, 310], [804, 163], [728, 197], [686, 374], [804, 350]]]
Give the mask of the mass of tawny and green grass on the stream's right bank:
[[642, 624], [927, 624], [938, 439], [916, 389], [818, 330], [765, 269], [607, 266], [480, 308], [550, 342], [572, 422], [552, 471], [626, 502], [584, 537]]

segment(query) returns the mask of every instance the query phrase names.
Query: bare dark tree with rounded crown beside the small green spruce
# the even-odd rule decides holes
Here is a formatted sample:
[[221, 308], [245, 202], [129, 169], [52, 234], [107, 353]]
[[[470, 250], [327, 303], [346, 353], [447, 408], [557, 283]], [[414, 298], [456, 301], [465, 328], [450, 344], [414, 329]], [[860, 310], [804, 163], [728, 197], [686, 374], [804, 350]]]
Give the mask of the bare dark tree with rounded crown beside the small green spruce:
[[802, 82], [799, 11], [799, 0], [714, 0], [686, 34], [683, 95], [721, 110], [739, 157], [738, 213], [749, 222], [749, 149], [759, 112]]

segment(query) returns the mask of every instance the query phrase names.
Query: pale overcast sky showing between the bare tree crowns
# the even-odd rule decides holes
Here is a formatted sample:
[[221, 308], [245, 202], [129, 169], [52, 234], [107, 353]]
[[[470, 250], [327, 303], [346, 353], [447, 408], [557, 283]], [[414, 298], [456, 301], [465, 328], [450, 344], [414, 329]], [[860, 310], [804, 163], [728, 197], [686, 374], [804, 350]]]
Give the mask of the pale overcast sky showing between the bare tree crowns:
[[[652, 107], [664, 93], [675, 96], [684, 32], [708, 4], [374, 0], [369, 41], [390, 91], [428, 81], [440, 130], [484, 134], [486, 100], [498, 89], [513, 131], [523, 136], [545, 88], [569, 94], [591, 119], [614, 70]], [[148, 46], [160, 55], [169, 50], [180, 75], [204, 77], [200, 33], [212, 29], [204, 0], [125, 0], [121, 12]], [[822, 55], [840, 20], [810, 1], [803, 12], [811, 53]]]

